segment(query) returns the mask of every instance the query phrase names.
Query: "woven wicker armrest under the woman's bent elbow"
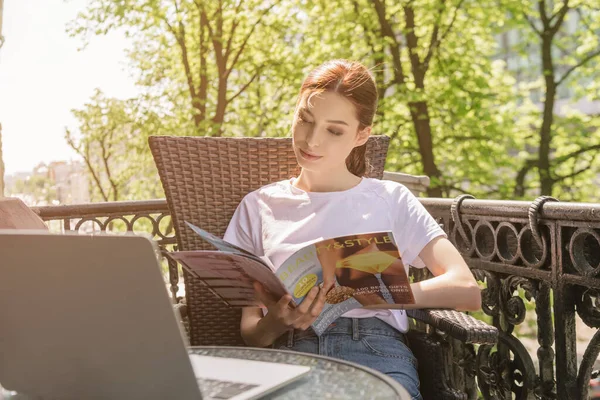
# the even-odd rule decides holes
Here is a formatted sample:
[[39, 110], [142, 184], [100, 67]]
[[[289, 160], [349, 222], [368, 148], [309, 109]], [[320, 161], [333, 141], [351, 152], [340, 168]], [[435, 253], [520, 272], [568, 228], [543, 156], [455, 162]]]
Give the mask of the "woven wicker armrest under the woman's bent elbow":
[[464, 343], [496, 344], [498, 329], [460, 311], [414, 309], [409, 317], [425, 322]]

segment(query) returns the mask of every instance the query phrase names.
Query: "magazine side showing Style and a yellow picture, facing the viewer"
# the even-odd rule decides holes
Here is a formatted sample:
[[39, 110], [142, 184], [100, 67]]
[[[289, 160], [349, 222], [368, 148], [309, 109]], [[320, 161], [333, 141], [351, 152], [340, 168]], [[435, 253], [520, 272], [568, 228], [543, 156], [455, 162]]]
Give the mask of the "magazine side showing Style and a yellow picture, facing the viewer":
[[397, 304], [414, 303], [391, 232], [322, 240], [297, 251], [277, 270], [277, 276], [297, 304], [312, 287], [323, 282], [324, 275], [332, 277], [335, 286], [328, 292], [323, 311], [313, 324], [317, 335], [356, 308], [395, 308]]

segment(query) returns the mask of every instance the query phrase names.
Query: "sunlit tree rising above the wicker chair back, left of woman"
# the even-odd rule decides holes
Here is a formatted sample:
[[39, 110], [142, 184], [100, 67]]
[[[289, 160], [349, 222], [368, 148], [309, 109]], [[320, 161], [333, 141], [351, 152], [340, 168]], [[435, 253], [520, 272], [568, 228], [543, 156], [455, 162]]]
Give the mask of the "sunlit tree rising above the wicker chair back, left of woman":
[[[241, 130], [237, 113], [248, 102], [254, 100], [256, 112], [272, 95], [264, 93], [264, 77], [283, 75], [273, 69], [289, 54], [284, 36], [293, 24], [291, 7], [280, 3], [93, 0], [70, 32], [87, 40], [123, 29], [134, 42], [128, 54], [138, 84], [160, 99], [157, 104], [175, 120], [173, 133], [220, 136]], [[228, 114], [234, 107], [236, 113]]]

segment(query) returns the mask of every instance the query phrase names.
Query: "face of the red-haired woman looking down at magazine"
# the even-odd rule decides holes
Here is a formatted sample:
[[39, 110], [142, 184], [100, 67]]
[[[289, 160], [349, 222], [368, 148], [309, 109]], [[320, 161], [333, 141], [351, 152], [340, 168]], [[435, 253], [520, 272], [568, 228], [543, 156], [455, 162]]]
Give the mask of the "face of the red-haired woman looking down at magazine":
[[292, 125], [298, 163], [309, 171], [345, 168], [346, 158], [369, 138], [370, 129], [358, 131], [354, 105], [334, 92], [304, 95]]

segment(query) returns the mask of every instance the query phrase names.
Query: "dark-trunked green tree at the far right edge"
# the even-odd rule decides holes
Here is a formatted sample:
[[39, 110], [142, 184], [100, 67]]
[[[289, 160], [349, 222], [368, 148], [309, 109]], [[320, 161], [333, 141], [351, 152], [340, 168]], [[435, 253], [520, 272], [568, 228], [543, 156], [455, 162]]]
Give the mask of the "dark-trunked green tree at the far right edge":
[[[522, 149], [524, 160], [516, 174], [514, 191], [517, 197], [532, 189], [541, 195], [559, 192], [563, 199], [565, 194], [572, 200], [593, 194], [582, 183], [589, 182], [599, 172], [598, 117], [575, 111], [557, 115], [556, 109], [560, 97], [571, 102], [581, 98], [600, 100], [600, 9], [596, 3], [592, 0], [509, 3], [515, 22], [521, 24], [521, 40], [513, 45], [514, 50], [523, 57], [535, 54], [528, 61], [539, 68], [537, 77], [526, 75], [523, 79], [531, 80], [532, 88], [540, 92], [542, 103], [541, 112], [528, 108], [534, 117], [526, 121], [538, 133], [528, 135]], [[530, 174], [536, 170], [537, 181]]]

